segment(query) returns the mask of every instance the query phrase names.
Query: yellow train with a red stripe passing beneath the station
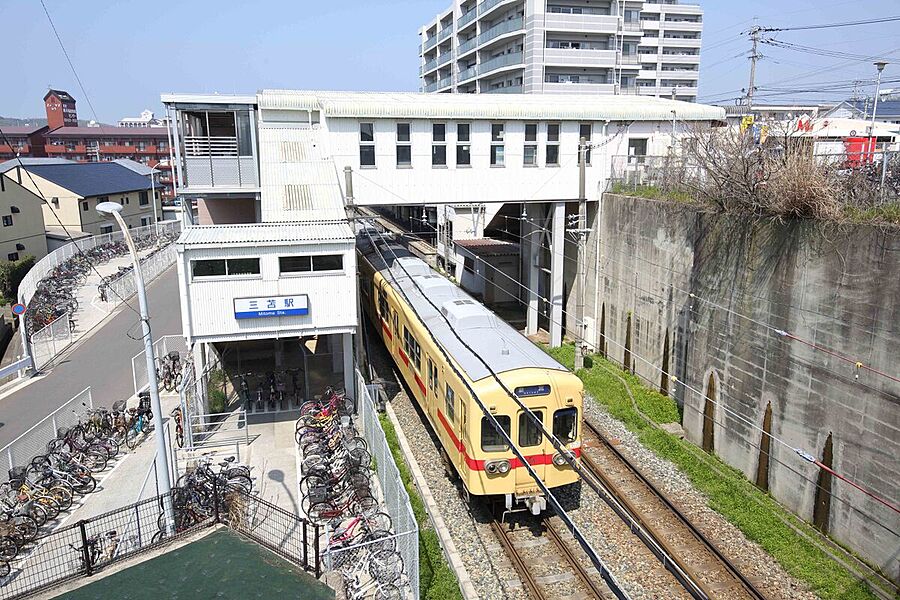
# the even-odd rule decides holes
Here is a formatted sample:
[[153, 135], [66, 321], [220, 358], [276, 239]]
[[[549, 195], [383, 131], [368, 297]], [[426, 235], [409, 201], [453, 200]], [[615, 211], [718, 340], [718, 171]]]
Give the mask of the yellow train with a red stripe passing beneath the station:
[[495, 497], [507, 509], [524, 505], [533, 514], [545, 510], [547, 499], [457, 371], [549, 488], [575, 483], [578, 474], [454, 332], [576, 458], [581, 452], [581, 380], [400, 244], [363, 231], [357, 252], [363, 308], [467, 495]]

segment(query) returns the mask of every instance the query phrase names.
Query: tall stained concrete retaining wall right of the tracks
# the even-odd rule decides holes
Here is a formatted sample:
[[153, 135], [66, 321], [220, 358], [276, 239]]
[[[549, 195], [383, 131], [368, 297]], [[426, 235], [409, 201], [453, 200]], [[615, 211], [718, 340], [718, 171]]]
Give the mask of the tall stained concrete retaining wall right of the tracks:
[[[834, 470], [900, 504], [900, 384], [824, 350], [900, 375], [900, 234], [610, 194], [599, 212], [588, 241], [589, 331], [599, 343], [605, 330], [621, 363], [631, 313], [633, 368], [655, 386], [668, 334], [668, 371], [684, 385], [666, 387], [688, 439], [703, 444], [704, 421], [713, 423], [715, 454], [757, 481], [770, 405], [770, 431], [787, 446], [771, 441], [762, 476], [785, 506], [813, 520], [820, 469], [793, 448], [822, 460], [829, 433]], [[841, 481], [830, 490], [827, 530], [897, 580], [897, 513]]]

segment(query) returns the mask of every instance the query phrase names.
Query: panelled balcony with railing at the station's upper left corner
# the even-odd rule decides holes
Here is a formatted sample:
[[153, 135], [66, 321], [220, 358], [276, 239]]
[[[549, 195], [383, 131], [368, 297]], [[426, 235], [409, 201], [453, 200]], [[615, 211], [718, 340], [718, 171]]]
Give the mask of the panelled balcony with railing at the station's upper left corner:
[[258, 188], [256, 157], [240, 156], [236, 137], [185, 136], [185, 186]]

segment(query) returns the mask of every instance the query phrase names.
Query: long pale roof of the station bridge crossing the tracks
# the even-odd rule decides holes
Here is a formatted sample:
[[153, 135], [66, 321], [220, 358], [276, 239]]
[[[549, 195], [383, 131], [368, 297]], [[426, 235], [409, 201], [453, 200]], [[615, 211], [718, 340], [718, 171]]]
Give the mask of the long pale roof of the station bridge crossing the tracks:
[[260, 109], [317, 110], [326, 117], [683, 121], [725, 118], [725, 110], [693, 102], [635, 95], [419, 94], [262, 90]]

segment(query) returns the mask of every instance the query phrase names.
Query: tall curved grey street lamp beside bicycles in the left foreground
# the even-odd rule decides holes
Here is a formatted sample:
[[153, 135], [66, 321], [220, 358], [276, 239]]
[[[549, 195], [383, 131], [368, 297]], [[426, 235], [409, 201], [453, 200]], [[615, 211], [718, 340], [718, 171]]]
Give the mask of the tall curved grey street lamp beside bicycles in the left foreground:
[[97, 212], [101, 217], [114, 220], [119, 229], [128, 252], [131, 254], [131, 263], [134, 267], [134, 283], [137, 288], [138, 305], [141, 311], [141, 335], [144, 337], [144, 354], [147, 358], [147, 382], [150, 385], [150, 408], [153, 411], [153, 428], [156, 430], [156, 480], [159, 483], [159, 493], [165, 498], [163, 501], [169, 528], [174, 526], [172, 518], [172, 482], [169, 479], [169, 454], [166, 448], [165, 430], [163, 429], [162, 404], [159, 400], [159, 382], [156, 379], [156, 356], [153, 351], [153, 337], [150, 334], [150, 313], [147, 310], [147, 290], [144, 287], [144, 275], [141, 273], [141, 259], [138, 256], [134, 240], [128, 231], [128, 225], [122, 219], [122, 205], [118, 202], [101, 202], [97, 205]]

